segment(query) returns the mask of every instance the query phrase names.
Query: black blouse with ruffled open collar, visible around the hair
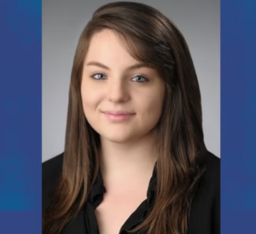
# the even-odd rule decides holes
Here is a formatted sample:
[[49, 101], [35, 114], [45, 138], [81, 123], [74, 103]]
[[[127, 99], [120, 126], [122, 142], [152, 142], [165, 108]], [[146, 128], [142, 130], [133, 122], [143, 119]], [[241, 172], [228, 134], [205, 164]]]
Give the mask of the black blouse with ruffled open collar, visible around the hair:
[[[63, 153], [43, 163], [43, 210], [49, 204], [52, 191], [61, 175], [62, 162]], [[220, 160], [208, 152], [206, 163], [207, 171], [201, 177], [192, 201], [188, 234], [220, 233]], [[156, 176], [157, 173], [154, 168], [148, 185], [147, 199], [125, 221], [119, 234], [128, 234], [127, 231], [142, 223], [148, 210], [154, 205]], [[99, 234], [95, 209], [102, 203], [105, 191], [102, 174], [99, 171], [84, 207], [79, 211], [77, 217], [61, 231], [61, 234]]]

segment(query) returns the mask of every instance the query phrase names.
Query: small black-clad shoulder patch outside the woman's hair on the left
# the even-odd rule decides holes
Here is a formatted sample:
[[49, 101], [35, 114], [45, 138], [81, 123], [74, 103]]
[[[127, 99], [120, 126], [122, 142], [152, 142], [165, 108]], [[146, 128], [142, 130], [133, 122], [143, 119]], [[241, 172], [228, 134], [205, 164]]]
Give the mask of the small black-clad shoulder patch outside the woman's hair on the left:
[[50, 197], [55, 190], [58, 180], [61, 177], [64, 153], [42, 163], [42, 190], [43, 209], [49, 204]]

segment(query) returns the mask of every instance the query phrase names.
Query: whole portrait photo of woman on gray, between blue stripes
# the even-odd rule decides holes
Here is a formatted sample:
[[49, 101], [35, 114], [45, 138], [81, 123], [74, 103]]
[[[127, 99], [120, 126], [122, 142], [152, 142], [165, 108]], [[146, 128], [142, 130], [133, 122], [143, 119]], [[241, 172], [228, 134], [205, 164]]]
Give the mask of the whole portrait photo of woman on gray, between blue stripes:
[[42, 3], [43, 234], [219, 234], [219, 1]]

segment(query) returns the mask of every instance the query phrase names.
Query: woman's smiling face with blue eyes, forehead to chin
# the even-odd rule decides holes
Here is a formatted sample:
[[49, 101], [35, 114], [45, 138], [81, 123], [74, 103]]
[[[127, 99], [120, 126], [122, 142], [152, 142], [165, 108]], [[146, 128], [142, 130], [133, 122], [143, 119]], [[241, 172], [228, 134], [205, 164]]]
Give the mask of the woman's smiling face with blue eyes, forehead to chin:
[[106, 140], [139, 140], [160, 119], [165, 84], [155, 69], [139, 64], [113, 31], [91, 38], [81, 84], [84, 115]]

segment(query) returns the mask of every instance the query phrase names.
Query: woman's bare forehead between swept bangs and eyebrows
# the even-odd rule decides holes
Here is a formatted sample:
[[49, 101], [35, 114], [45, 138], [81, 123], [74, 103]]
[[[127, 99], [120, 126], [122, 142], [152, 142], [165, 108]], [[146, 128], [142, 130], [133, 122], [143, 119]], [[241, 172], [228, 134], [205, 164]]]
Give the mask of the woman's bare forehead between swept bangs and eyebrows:
[[96, 32], [90, 39], [85, 62], [96, 60], [108, 66], [126, 67], [138, 62], [125, 50], [121, 39], [111, 30]]

